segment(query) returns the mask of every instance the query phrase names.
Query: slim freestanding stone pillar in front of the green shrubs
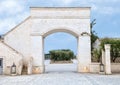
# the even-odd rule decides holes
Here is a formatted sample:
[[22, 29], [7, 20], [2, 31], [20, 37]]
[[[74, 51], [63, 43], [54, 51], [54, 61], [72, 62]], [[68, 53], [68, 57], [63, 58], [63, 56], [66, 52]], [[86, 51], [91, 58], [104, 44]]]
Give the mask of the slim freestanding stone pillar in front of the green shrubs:
[[105, 73], [111, 74], [110, 44], [105, 44]]

